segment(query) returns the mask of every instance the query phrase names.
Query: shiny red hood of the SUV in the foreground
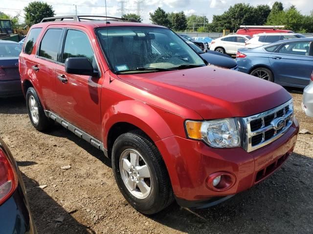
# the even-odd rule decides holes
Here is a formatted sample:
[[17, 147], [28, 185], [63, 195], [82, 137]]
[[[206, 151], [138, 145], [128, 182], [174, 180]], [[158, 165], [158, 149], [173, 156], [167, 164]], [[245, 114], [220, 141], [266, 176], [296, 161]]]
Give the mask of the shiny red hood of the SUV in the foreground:
[[291, 99], [280, 85], [213, 66], [118, 76], [193, 109], [204, 119], [247, 117]]

